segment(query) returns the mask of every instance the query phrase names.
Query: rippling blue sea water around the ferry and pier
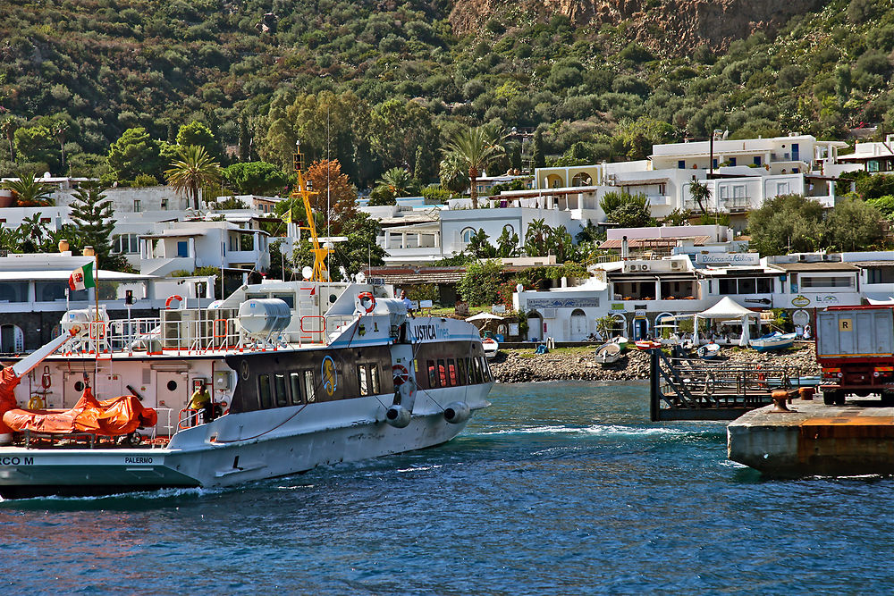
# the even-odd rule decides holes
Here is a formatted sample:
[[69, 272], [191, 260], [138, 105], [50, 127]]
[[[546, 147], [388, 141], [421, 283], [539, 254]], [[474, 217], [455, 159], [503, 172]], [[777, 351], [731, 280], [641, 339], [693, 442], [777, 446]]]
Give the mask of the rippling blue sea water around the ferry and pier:
[[894, 479], [763, 480], [643, 384], [498, 385], [450, 443], [222, 491], [0, 503], [0, 592], [891, 593]]

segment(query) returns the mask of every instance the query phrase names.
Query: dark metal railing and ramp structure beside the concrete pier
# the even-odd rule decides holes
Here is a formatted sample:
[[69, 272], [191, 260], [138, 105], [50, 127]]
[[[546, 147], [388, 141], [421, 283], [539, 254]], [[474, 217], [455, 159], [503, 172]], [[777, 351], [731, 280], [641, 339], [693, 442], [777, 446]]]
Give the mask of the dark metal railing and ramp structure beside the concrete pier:
[[650, 408], [662, 420], [734, 420], [772, 403], [772, 391], [800, 387], [796, 366], [707, 362], [652, 349]]

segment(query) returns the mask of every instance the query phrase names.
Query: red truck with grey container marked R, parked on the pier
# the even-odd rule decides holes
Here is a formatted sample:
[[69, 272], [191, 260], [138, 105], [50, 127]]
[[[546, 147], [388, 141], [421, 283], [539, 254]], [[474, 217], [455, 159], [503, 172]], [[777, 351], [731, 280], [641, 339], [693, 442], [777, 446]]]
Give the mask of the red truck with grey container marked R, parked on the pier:
[[816, 361], [826, 404], [871, 393], [894, 403], [894, 307], [830, 306], [818, 312]]

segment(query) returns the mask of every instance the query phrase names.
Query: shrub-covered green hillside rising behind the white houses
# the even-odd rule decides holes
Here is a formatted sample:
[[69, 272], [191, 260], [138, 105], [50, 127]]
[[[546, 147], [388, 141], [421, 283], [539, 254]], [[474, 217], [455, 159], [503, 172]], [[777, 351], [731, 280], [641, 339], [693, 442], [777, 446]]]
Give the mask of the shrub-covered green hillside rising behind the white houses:
[[[564, 163], [638, 158], [713, 129], [734, 139], [894, 130], [894, 0], [835, 0], [775, 38], [682, 55], [670, 39], [637, 45], [623, 22], [574, 28], [561, 15], [495, 14], [458, 38], [450, 10], [439, 0], [5, 0], [0, 174], [97, 175], [124, 130], [173, 142], [193, 121], [222, 155], [238, 147], [224, 160], [288, 168], [300, 139], [361, 187], [393, 166], [434, 180], [443, 139], [481, 122], [539, 127], [545, 153]], [[510, 142], [524, 146], [507, 155], [527, 160], [530, 135]]]

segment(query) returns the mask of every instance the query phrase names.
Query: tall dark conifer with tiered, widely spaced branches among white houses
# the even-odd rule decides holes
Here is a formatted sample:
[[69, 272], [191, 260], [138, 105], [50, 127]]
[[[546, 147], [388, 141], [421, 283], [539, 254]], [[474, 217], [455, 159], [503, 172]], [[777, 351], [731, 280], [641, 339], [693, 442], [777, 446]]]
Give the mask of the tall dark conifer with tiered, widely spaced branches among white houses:
[[114, 230], [114, 205], [105, 198], [97, 184], [85, 183], [74, 195], [72, 222], [77, 229], [76, 244], [81, 250], [93, 247], [97, 251], [100, 269], [119, 268], [122, 259], [113, 256], [111, 236]]

